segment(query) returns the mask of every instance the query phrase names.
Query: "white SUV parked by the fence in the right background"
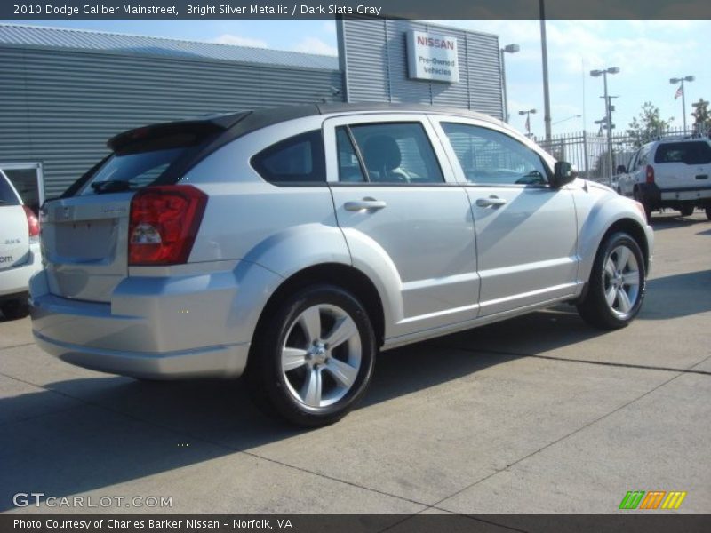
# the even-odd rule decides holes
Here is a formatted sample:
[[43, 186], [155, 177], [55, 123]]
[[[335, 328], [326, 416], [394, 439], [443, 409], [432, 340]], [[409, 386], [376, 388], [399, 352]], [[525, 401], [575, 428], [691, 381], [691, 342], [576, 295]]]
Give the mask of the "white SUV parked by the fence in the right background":
[[711, 220], [711, 141], [707, 138], [660, 139], [639, 148], [621, 167], [620, 193], [651, 211], [671, 208], [683, 217], [699, 207]]

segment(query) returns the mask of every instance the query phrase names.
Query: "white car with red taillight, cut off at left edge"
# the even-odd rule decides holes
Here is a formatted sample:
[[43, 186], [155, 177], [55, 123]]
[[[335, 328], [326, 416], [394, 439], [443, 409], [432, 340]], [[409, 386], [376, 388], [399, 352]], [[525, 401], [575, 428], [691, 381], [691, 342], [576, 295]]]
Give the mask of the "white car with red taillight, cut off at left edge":
[[29, 278], [41, 268], [39, 220], [0, 171], [0, 311], [5, 319], [28, 314]]

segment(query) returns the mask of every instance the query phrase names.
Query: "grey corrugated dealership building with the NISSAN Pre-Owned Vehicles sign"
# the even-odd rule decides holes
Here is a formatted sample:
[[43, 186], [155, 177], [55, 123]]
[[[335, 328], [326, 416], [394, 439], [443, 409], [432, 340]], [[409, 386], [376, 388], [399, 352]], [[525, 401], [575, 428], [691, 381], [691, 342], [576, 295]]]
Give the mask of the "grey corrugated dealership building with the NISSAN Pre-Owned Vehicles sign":
[[337, 20], [338, 57], [0, 24], [0, 169], [26, 203], [60, 195], [120, 131], [324, 101], [434, 104], [503, 117], [499, 37]]

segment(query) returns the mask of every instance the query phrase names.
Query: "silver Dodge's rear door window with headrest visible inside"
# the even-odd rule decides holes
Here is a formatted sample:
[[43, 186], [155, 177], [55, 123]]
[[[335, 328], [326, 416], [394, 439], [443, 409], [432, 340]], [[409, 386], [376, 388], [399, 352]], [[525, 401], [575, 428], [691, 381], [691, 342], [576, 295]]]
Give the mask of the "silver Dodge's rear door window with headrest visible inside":
[[442, 170], [421, 123], [350, 126], [366, 177], [373, 183], [443, 183]]

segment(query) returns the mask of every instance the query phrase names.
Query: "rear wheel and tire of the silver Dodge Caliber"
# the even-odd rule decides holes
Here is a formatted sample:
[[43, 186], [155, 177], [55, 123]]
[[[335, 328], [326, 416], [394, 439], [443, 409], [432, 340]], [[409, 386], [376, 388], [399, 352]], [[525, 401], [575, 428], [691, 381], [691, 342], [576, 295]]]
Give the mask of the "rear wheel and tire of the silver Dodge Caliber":
[[308, 427], [332, 424], [356, 406], [377, 351], [363, 305], [325, 284], [284, 299], [260, 324], [253, 346], [247, 380], [254, 402]]

